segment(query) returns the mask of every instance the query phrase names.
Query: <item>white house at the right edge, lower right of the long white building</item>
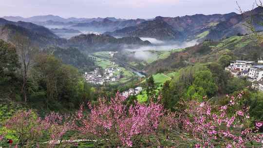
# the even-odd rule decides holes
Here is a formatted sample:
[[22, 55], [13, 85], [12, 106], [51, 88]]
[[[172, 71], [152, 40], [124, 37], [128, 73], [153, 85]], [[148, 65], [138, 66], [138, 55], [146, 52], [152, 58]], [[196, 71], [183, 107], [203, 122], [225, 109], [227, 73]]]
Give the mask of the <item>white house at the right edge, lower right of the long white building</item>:
[[259, 81], [263, 78], [263, 65], [255, 65], [249, 70], [248, 80], [251, 82]]

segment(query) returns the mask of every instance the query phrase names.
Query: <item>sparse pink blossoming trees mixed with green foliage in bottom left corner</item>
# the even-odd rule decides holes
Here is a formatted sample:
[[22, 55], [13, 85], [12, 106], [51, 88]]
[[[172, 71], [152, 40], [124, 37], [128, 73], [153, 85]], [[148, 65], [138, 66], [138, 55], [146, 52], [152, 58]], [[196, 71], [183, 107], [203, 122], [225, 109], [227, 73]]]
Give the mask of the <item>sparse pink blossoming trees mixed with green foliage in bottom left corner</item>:
[[[5, 122], [4, 134], [12, 135], [18, 147], [60, 148], [71, 141], [63, 141], [63, 135], [71, 129], [70, 118], [51, 112], [41, 119], [34, 111], [18, 111]], [[0, 141], [5, 135], [0, 135]], [[41, 138], [48, 138], [42, 142]]]

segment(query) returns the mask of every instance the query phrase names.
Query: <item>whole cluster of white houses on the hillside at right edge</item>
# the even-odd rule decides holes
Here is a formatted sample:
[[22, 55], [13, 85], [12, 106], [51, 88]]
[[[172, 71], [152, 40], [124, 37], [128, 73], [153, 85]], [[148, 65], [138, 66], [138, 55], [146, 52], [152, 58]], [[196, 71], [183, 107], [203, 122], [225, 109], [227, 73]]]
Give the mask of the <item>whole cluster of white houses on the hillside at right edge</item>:
[[246, 78], [252, 82], [252, 88], [263, 92], [263, 60], [258, 62], [236, 60], [230, 61], [230, 65], [225, 67], [233, 76]]

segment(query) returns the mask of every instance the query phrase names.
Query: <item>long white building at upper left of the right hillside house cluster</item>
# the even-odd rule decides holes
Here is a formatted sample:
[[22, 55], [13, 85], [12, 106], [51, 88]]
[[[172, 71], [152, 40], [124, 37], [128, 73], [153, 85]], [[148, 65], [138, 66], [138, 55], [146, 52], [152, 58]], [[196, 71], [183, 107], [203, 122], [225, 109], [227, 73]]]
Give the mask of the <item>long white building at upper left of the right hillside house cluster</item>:
[[255, 62], [236, 60], [230, 61], [230, 65], [226, 68], [228, 71], [235, 70], [238, 72], [248, 71]]

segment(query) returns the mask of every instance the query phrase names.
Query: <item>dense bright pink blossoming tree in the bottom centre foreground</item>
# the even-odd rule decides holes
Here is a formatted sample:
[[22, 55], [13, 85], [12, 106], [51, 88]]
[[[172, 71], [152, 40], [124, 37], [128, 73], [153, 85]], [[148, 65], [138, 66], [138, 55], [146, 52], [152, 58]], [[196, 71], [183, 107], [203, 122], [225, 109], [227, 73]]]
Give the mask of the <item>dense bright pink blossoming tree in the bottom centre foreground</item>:
[[104, 140], [110, 147], [142, 144], [143, 138], [157, 133], [163, 107], [153, 102], [148, 106], [135, 103], [128, 107], [124, 104], [125, 100], [119, 92], [110, 102], [99, 99], [98, 105], [89, 105], [91, 112], [88, 115], [81, 106], [76, 114], [75, 128], [84, 135], [91, 134]]

